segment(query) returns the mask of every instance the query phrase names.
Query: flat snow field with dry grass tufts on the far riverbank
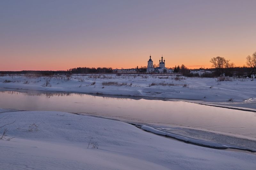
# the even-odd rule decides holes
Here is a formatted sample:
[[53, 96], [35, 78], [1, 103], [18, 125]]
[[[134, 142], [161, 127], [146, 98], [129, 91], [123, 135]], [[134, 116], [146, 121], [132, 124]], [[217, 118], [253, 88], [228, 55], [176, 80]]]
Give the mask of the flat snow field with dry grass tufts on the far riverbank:
[[[47, 80], [50, 80], [49, 87], [45, 86]], [[4, 75], [0, 77], [0, 87], [197, 100], [193, 102], [244, 107], [256, 111], [256, 100], [248, 100], [256, 97], [256, 80], [252, 78], [230, 78], [230, 80], [218, 82], [217, 78], [137, 74], [121, 76], [116, 74], [78, 74], [70, 77], [66, 75], [50, 77]], [[116, 82], [117, 85], [102, 85], [103, 82]], [[152, 83], [160, 85], [151, 85]], [[161, 84], [169, 85], [163, 86]]]

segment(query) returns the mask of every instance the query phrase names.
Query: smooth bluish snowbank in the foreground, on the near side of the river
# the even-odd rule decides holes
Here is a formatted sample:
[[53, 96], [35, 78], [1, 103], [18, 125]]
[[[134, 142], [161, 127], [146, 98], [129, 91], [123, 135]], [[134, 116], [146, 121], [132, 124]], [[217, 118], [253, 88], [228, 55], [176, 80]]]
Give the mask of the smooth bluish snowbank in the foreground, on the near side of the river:
[[[206, 148], [148, 133], [131, 124], [51, 111], [11, 116], [0, 140], [1, 169], [255, 169], [256, 155]], [[36, 128], [29, 128], [35, 124]], [[148, 129], [147, 127], [144, 127]], [[3, 129], [0, 129], [1, 132]], [[87, 149], [88, 142], [99, 148]]]

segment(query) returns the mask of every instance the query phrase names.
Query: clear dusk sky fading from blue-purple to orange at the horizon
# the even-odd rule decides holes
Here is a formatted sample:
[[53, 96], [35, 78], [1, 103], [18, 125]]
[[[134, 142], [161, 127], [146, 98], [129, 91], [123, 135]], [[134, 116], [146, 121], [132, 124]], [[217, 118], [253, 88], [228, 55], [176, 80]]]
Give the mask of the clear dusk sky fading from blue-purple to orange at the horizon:
[[0, 70], [245, 64], [256, 51], [256, 1], [2, 0]]

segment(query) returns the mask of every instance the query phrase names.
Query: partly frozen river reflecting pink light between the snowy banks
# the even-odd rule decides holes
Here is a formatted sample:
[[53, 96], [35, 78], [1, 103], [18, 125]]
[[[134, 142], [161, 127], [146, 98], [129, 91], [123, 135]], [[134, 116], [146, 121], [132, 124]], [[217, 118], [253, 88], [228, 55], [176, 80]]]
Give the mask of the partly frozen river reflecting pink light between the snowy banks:
[[0, 90], [0, 108], [63, 111], [148, 124], [186, 137], [256, 149], [256, 113], [154, 98]]

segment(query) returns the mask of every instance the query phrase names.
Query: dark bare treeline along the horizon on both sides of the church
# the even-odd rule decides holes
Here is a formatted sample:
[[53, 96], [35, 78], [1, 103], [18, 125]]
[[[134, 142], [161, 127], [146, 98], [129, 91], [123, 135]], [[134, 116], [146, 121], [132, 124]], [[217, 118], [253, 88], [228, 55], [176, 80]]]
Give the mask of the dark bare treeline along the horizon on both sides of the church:
[[[174, 73], [182, 73], [184, 76], [194, 77], [198, 76], [194, 74], [193, 71], [196, 70], [205, 70], [209, 71], [208, 73], [204, 73], [205, 77], [218, 77], [218, 76], [238, 76], [238, 77], [253, 77], [256, 78], [256, 52], [246, 57], [246, 66], [244, 67], [236, 67], [234, 63], [231, 63], [230, 60], [225, 59], [224, 57], [213, 57], [210, 60], [212, 63], [212, 68], [210, 69], [194, 69], [189, 70], [184, 64], [181, 66], [175, 66], [173, 68]], [[154, 64], [154, 67], [158, 65]], [[137, 72], [145, 73], [147, 71], [147, 66], [137, 66]], [[169, 68], [171, 69], [171, 68]], [[77, 67], [68, 69], [66, 71], [33, 71], [33, 70], [23, 70], [23, 71], [0, 71], [0, 74], [42, 74], [42, 75], [51, 75], [51, 74], [71, 74], [71, 73], [113, 73], [113, 69], [111, 67], [98, 67], [98, 68], [89, 68], [89, 67]], [[200, 75], [202, 77], [202, 74]]]

